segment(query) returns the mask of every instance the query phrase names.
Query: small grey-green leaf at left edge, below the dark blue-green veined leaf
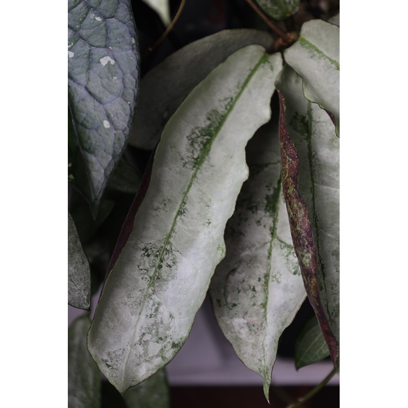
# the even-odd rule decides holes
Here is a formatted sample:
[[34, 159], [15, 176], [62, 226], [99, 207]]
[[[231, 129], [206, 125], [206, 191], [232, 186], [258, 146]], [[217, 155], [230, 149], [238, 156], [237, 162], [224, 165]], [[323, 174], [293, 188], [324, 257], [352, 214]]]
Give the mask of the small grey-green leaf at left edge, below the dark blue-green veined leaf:
[[91, 272], [77, 228], [68, 211], [68, 303], [89, 310]]

